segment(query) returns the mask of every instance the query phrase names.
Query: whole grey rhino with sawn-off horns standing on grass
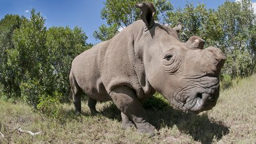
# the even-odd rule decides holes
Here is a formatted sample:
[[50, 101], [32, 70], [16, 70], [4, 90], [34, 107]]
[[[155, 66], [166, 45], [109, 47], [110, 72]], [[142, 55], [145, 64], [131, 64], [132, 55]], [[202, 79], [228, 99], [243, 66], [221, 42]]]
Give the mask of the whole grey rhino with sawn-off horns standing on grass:
[[153, 4], [136, 7], [142, 20], [76, 56], [69, 81], [75, 111], [81, 113], [84, 92], [92, 113], [97, 113], [97, 101], [112, 100], [121, 111], [124, 129], [136, 126], [140, 133], [153, 133], [142, 101], [157, 91], [184, 112], [210, 110], [219, 97], [225, 55], [216, 47], [203, 49], [205, 41], [197, 36], [182, 43], [181, 25], [156, 23]]

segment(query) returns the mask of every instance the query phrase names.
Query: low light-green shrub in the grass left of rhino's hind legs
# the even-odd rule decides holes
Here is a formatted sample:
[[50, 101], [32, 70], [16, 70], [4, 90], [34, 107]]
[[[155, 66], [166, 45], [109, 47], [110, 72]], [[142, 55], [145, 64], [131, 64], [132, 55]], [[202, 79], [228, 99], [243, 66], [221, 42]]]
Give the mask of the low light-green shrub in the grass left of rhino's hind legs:
[[60, 103], [62, 97], [63, 95], [58, 92], [54, 92], [52, 96], [40, 95], [37, 110], [52, 119], [61, 120], [64, 116], [64, 110]]

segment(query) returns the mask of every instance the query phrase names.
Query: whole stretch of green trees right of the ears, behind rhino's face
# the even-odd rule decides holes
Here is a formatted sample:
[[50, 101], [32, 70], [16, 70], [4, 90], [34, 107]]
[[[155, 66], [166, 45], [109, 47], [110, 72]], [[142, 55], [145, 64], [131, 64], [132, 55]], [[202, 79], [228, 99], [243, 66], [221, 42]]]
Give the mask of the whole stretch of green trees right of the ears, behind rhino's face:
[[181, 41], [191, 36], [200, 36], [206, 40], [206, 46], [215, 46], [225, 52], [227, 60], [222, 73], [231, 78], [248, 76], [255, 71], [256, 37], [255, 14], [252, 2], [226, 1], [215, 11], [206, 9], [204, 4], [167, 12], [165, 21], [171, 27], [183, 24]]

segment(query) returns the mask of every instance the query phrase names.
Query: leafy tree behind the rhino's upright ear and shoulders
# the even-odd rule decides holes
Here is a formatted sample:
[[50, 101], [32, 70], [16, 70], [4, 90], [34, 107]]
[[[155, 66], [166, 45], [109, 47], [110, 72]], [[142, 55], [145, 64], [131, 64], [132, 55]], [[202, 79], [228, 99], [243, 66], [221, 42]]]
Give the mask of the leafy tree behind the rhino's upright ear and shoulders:
[[[107, 0], [105, 7], [101, 10], [101, 18], [107, 20], [106, 25], [101, 25], [100, 30], [94, 32], [94, 37], [101, 41], [111, 39], [119, 27], [127, 27], [134, 21], [140, 19], [140, 9], [135, 5], [143, 2], [142, 0]], [[167, 0], [150, 0], [156, 7], [155, 20], [164, 23], [164, 17], [167, 11], [172, 10], [172, 5]]]

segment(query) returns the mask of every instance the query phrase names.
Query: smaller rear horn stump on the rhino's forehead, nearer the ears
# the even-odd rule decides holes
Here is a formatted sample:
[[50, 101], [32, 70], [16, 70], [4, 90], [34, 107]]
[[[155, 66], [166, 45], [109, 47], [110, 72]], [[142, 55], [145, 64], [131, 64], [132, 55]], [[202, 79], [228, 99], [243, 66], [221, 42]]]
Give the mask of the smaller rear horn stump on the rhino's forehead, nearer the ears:
[[185, 44], [189, 49], [203, 49], [205, 41], [197, 36], [191, 36]]

